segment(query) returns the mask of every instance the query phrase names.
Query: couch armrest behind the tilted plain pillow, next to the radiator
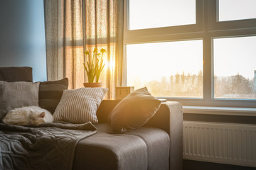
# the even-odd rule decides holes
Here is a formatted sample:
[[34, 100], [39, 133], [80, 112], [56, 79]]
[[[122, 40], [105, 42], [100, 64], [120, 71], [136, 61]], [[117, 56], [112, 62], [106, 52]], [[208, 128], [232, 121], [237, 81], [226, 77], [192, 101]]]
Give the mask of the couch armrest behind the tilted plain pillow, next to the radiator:
[[[104, 100], [97, 110], [99, 123], [109, 123], [108, 115], [120, 100]], [[170, 170], [182, 170], [183, 140], [182, 140], [183, 108], [181, 103], [167, 101], [161, 103], [156, 114], [144, 126], [151, 126], [165, 130], [170, 136]]]

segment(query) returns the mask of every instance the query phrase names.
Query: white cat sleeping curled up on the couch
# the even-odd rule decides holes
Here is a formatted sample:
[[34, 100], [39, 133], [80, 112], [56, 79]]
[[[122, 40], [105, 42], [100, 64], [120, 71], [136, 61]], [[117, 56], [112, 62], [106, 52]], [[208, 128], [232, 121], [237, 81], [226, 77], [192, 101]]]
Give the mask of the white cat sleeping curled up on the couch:
[[53, 115], [39, 106], [26, 106], [9, 111], [2, 121], [11, 125], [40, 125], [52, 123]]

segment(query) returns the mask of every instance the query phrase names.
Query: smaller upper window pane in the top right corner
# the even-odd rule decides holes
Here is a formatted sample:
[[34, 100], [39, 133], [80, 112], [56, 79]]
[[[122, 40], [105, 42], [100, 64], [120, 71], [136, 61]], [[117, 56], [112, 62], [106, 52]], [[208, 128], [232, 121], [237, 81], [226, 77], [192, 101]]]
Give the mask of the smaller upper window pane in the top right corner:
[[219, 21], [256, 18], [255, 0], [219, 0]]

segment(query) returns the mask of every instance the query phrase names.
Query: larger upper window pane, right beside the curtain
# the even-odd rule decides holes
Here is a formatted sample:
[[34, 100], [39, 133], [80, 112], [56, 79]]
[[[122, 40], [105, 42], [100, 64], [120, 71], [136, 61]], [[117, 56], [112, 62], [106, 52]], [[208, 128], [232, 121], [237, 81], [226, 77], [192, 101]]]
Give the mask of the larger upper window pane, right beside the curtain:
[[129, 29], [196, 23], [196, 0], [130, 0]]

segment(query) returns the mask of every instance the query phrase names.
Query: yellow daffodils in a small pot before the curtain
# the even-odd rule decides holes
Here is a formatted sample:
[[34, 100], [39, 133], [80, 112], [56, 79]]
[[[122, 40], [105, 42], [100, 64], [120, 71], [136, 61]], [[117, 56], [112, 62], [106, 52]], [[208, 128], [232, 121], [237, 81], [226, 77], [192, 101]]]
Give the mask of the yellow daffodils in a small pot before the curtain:
[[98, 50], [95, 47], [91, 56], [89, 51], [85, 51], [87, 62], [86, 64], [84, 63], [84, 67], [85, 67], [85, 72], [87, 74], [87, 79], [88, 79], [88, 83], [84, 83], [85, 87], [102, 86], [102, 83], [99, 83], [99, 79], [100, 79], [100, 74], [105, 67], [105, 64], [103, 63], [103, 55], [105, 52], [106, 50], [102, 48], [100, 50], [100, 53], [98, 53]]

